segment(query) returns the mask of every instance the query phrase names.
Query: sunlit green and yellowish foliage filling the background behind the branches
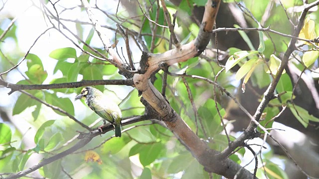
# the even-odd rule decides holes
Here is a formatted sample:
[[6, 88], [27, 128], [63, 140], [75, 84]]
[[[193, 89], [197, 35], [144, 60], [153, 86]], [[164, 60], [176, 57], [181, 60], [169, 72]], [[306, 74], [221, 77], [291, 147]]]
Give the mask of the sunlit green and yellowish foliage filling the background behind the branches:
[[[232, 0], [224, 1], [227, 3], [232, 2]], [[156, 19], [159, 24], [165, 24], [162, 6], [158, 6], [156, 3], [150, 4], [150, 1], [145, 2], [147, 6], [151, 7], [150, 10], [147, 10], [150, 13], [150, 18]], [[265, 13], [264, 7], [270, 1], [242, 0], [241, 2], [244, 2], [258, 21], [261, 21]], [[172, 13], [180, 10], [178, 13], [191, 15], [193, 9], [193, 5], [191, 4], [193, 3], [197, 6], [204, 6], [206, 0], [182, 0], [179, 6], [167, 2], [167, 7], [169, 7], [169, 11]], [[42, 5], [50, 6], [50, 3], [46, 2], [46, 4]], [[297, 4], [285, 3], [286, 7], [294, 5]], [[255, 6], [258, 8], [251, 8]], [[75, 8], [80, 11], [79, 14], [87, 15], [85, 9]], [[115, 8], [115, 6], [112, 8]], [[113, 19], [113, 21], [110, 21], [108, 18], [106, 25], [115, 28], [116, 23], [122, 23], [123, 27], [132, 30], [130, 31], [130, 35], [135, 32], [139, 33], [141, 30], [141, 35], [143, 36], [143, 40], [145, 40], [146, 46], [149, 48], [148, 50], [151, 50], [151, 45], [154, 43], [156, 46], [154, 53], [168, 51], [169, 42], [167, 39], [169, 39], [170, 35], [168, 29], [164, 30], [163, 27], [159, 26], [155, 31], [155, 24], [143, 16], [143, 13], [139, 11], [139, 6], [132, 8], [136, 8], [138, 11], [138, 17], [141, 17], [139, 20], [134, 18], [123, 20], [130, 15], [124, 7], [119, 9], [117, 15], [115, 15], [115, 12], [107, 13], [107, 10], [102, 11], [106, 12]], [[143, 9], [146, 10], [144, 7]], [[65, 8], [65, 11], [72, 12], [72, 10]], [[159, 11], [158, 17], [157, 10]], [[286, 18], [283, 21], [284, 18], [282, 17], [286, 17], [286, 14], [283, 15], [282, 6], [273, 6], [272, 11], [272, 15], [264, 26], [272, 24], [272, 29], [284, 34], [291, 34], [289, 28], [284, 28], [289, 25], [289, 21]], [[61, 14], [63, 13], [61, 12]], [[319, 14], [316, 11], [312, 15], [306, 19], [305, 26], [299, 34], [300, 38], [312, 40], [317, 37], [316, 31], [318, 32], [319, 27], [311, 19], [318, 19]], [[60, 18], [63, 19], [63, 15]], [[77, 19], [75, 16], [73, 18]], [[247, 18], [247, 20], [249, 21], [250, 19]], [[62, 23], [64, 22], [62, 21]], [[143, 25], [141, 25], [141, 22], [144, 22]], [[1, 23], [2, 25], [4, 24], [4, 22]], [[76, 24], [76, 30], [74, 31], [76, 31], [77, 36], [81, 37], [92, 48], [88, 48], [88, 46], [78, 39], [73, 39], [73, 41], [76, 41], [75, 44], [78, 47], [60, 44], [59, 47], [54, 48], [45, 57], [37, 55], [37, 53], [41, 53], [34, 50], [32, 53], [27, 54], [25, 58], [26, 63], [21, 64], [23, 66], [21, 70], [25, 69], [25, 71], [19, 73], [17, 70], [13, 70], [1, 77], [11, 82], [10, 76], [19, 76], [20, 80], [14, 82], [17, 85], [63, 84], [82, 80], [124, 79], [123, 76], [118, 74], [118, 69], [110, 63], [100, 61], [86, 53], [80, 53], [79, 49], [83, 48], [93, 55], [101, 53], [109, 58], [104, 47], [96, 42], [99, 38], [94, 33], [94, 29], [91, 29], [91, 26], [88, 27], [80, 21], [74, 23]], [[260, 23], [252, 24], [255, 24], [255, 27], [262, 28]], [[239, 26], [235, 25], [235, 27]], [[15, 45], [18, 46], [21, 39], [15, 35], [15, 31], [16, 26], [13, 25], [1, 40], [6, 41], [8, 38], [13, 38]], [[198, 31], [199, 27], [195, 22], [192, 22], [190, 19], [183, 19], [182, 16], [177, 16], [175, 32], [178, 35], [178, 39], [181, 39], [181, 44], [186, 44], [195, 39]], [[66, 31], [63, 32], [67, 33]], [[114, 31], [111, 32], [112, 34], [115, 33]], [[152, 33], [156, 35], [154, 39], [150, 35]], [[229, 48], [226, 51], [229, 58], [225, 64], [225, 72], [223, 71], [216, 80], [218, 84], [232, 94], [238, 92], [237, 84], [242, 78], [244, 79], [240, 83], [242, 83], [243, 92], [249, 80], [251, 84], [260, 89], [269, 86], [274, 76], [278, 75], [278, 69], [282, 64], [281, 54], [287, 50], [286, 44], [290, 40], [288, 37], [279, 36], [278, 34], [269, 33], [269, 35], [267, 33], [266, 35], [265, 32], [259, 31], [259, 48], [256, 50], [245, 31], [239, 31], [239, 33], [250, 47], [250, 50]], [[126, 54], [124, 39], [120, 34], [117, 34], [111, 38], [111, 41], [116, 41], [116, 39], [119, 39], [120, 42], [115, 50], [119, 54], [122, 53], [121, 51], [123, 51], [123, 54]], [[302, 59], [302, 61], [294, 61], [296, 66], [298, 68], [300, 66], [302, 68], [309, 68], [315, 66], [316, 63], [318, 66], [319, 51], [316, 49], [316, 46], [309, 42], [302, 41], [301, 43], [304, 43], [307, 46], [305, 47], [307, 48], [306, 50], [310, 51], [295, 54], [299, 59]], [[132, 47], [133, 43], [130, 45], [134, 62], [139, 62], [138, 58], [140, 58], [141, 52], [137, 46]], [[212, 46], [212, 44], [209, 46]], [[4, 60], [4, 54], [13, 64], [18, 63], [17, 59], [21, 59], [24, 55], [22, 50], [21, 52], [1, 53], [1, 72], [12, 67], [10, 63]], [[124, 55], [125, 57], [123, 55], [120, 56], [123, 59], [128, 59], [126, 55]], [[47, 59], [50, 59], [53, 63], [48, 62]], [[239, 70], [233, 72], [234, 67], [239, 67]], [[20, 67], [18, 69], [20, 70]], [[186, 62], [171, 66], [169, 71], [176, 74], [186, 73], [214, 80], [217, 72], [222, 69], [223, 67], [218, 66], [213, 60], [194, 57]], [[163, 71], [155, 75], [157, 79], [154, 82], [154, 86], [159, 91], [162, 90], [163, 76]], [[219, 91], [215, 94], [211, 84], [193, 78], [182, 79], [180, 77], [168, 76], [167, 84], [165, 97], [176, 113], [181, 116], [191, 130], [196, 132], [198, 137], [203, 139], [211, 149], [223, 151], [228, 146], [228, 138], [223, 132], [224, 128], [221, 123], [221, 117], [224, 119], [227, 115], [225, 108], [228, 100], [224, 100], [226, 94]], [[98, 116], [90, 111], [84, 103], [74, 101], [75, 93], [78, 94], [81, 88], [27, 90], [28, 93], [15, 92], [19, 93], [19, 96], [13, 102], [11, 114], [13, 117], [18, 118], [18, 120], [25, 120], [28, 126], [34, 130], [34, 134], [31, 135], [34, 143], [32, 142], [32, 147], [30, 147], [30, 145], [25, 144], [25, 141], [22, 141], [25, 134], [15, 126], [19, 125], [19, 122], [14, 125], [4, 121], [0, 123], [0, 174], [16, 173], [25, 170], [29, 167], [26, 164], [30, 161], [31, 156], [40, 156], [41, 159], [49, 158], [67, 150], [76, 143], [77, 139], [73, 139], [77, 135], [75, 131], [84, 131], [84, 129], [74, 122], [70, 116], [75, 116], [76, 119], [87, 126], [98, 119]], [[139, 91], [136, 89], [106, 85], [99, 85], [96, 88], [103, 91], [110, 99], [120, 103], [119, 106], [122, 109], [123, 118], [130, 118], [145, 113], [144, 105], [140, 102], [140, 97], [138, 96]], [[310, 114], [302, 106], [293, 103], [293, 84], [285, 71], [282, 73], [279, 84], [276, 87], [276, 93], [280, 95], [278, 98], [273, 99], [270, 105], [263, 111], [266, 115], [264, 120], [260, 122], [261, 125], [266, 128], [272, 128], [272, 119], [278, 115], [282, 106], [287, 106], [296, 117], [294, 120], [298, 120], [304, 127], [308, 127], [309, 121], [319, 122], [317, 117]], [[216, 101], [214, 100], [214, 95], [216, 95]], [[31, 98], [30, 96], [33, 97]], [[38, 100], [35, 100], [34, 97]], [[260, 97], [262, 98], [263, 96]], [[195, 110], [192, 103], [194, 103]], [[231, 123], [232, 121], [227, 121], [225, 125], [228, 126]], [[93, 127], [99, 125], [101, 125], [100, 122], [94, 123]], [[83, 170], [85, 172], [81, 173], [82, 178], [103, 178], [103, 176], [126, 179], [209, 178], [210, 174], [204, 170], [198, 161], [174, 137], [172, 132], [162, 125], [150, 121], [142, 121], [123, 126], [122, 130], [127, 131], [122, 134], [121, 138], [111, 138], [113, 132], [108, 132], [102, 135], [102, 137], [96, 137], [80, 151], [49, 165], [45, 165], [39, 170], [39, 174], [44, 178], [50, 179], [66, 178], [67, 174], [76, 178], [79, 177], [77, 176], [79, 171]], [[30, 135], [27, 136], [28, 138], [30, 137]], [[229, 135], [230, 141], [234, 141], [235, 139], [235, 135]], [[96, 146], [99, 147], [95, 148]], [[238, 164], [242, 164], [244, 155], [247, 152], [242, 148], [229, 158]], [[269, 178], [288, 178], [287, 174], [277, 164], [271, 162], [270, 158], [274, 156], [266, 156], [264, 153], [261, 156], [266, 158], [264, 161], [265, 167], [258, 169], [257, 177], [263, 178], [265, 172]], [[35, 163], [32, 161], [31, 166], [33, 165]], [[221, 176], [216, 174], [211, 175], [214, 179], [221, 178]]]

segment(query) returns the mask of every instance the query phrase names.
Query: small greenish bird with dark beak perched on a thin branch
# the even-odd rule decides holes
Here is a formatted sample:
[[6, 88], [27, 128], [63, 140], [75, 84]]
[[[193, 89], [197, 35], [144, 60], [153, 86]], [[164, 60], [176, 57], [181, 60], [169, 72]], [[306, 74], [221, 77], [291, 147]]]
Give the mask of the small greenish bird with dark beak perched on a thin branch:
[[81, 94], [75, 99], [84, 98], [86, 104], [100, 117], [102, 117], [103, 125], [99, 127], [102, 132], [102, 127], [106, 121], [114, 125], [115, 137], [121, 137], [121, 119], [122, 113], [119, 106], [112, 100], [107, 98], [99, 89], [93, 87], [85, 87], [81, 90]]

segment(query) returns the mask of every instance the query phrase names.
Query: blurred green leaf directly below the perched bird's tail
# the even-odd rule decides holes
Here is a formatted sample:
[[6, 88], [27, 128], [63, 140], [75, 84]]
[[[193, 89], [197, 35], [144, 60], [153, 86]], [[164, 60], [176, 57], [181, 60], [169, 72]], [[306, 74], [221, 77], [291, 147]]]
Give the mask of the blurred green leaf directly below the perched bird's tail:
[[122, 137], [113, 137], [103, 144], [102, 153], [103, 154], [116, 154], [126, 146], [132, 139], [126, 135], [122, 135]]

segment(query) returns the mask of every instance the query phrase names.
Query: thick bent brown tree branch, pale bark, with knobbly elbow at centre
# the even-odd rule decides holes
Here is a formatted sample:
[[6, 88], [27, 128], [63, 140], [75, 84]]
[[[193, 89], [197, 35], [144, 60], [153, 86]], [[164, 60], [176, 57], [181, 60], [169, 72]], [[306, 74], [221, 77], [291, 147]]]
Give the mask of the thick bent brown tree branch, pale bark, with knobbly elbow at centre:
[[[173, 131], [178, 140], [192, 153], [207, 172], [214, 172], [226, 178], [252, 178], [252, 174], [227, 157], [217, 158], [217, 151], [209, 149], [207, 144], [200, 140], [180, 116], [171, 108], [160, 92], [152, 85], [149, 78], [162, 66], [170, 66], [183, 62], [199, 55], [207, 46], [212, 35], [213, 24], [218, 11], [220, 0], [208, 0], [205, 6], [205, 15], [200, 26], [197, 38], [180, 48], [169, 50], [155, 55], [144, 53], [141, 59], [141, 71], [145, 74], [135, 74], [133, 81], [144, 99], [160, 114], [160, 118]], [[207, 12], [206, 12], [207, 10]], [[207, 40], [208, 39], [208, 40]]]

